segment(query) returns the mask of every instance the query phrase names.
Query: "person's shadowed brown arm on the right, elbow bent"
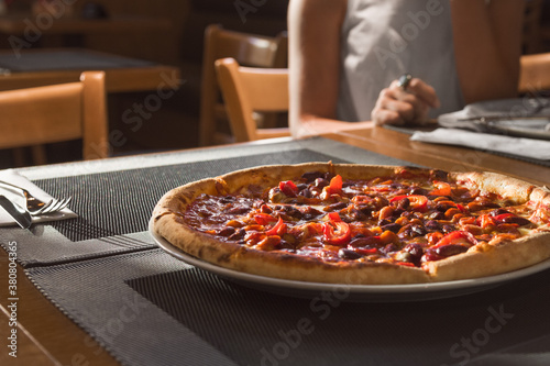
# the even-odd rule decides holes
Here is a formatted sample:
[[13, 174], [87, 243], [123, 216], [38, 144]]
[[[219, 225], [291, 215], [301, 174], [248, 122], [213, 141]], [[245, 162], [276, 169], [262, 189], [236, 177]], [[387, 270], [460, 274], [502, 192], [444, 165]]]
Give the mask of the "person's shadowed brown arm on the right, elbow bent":
[[525, 0], [451, 0], [454, 52], [466, 103], [518, 93]]

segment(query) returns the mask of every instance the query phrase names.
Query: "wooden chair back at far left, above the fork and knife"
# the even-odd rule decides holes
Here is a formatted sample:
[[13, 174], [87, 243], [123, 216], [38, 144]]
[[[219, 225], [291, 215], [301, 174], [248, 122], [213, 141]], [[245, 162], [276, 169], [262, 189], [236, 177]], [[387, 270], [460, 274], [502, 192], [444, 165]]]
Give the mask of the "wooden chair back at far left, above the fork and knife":
[[105, 73], [80, 81], [0, 92], [0, 148], [34, 146], [34, 164], [45, 164], [44, 145], [82, 138], [84, 159], [108, 156]]

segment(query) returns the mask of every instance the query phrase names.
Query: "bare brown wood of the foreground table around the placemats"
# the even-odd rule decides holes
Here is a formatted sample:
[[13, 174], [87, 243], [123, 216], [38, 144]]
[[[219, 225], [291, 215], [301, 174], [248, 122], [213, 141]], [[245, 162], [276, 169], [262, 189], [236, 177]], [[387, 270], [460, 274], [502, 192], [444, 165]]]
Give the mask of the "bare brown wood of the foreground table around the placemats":
[[[466, 148], [414, 143], [409, 142], [406, 134], [382, 127], [333, 133], [326, 137], [424, 166], [448, 170], [487, 169], [537, 184], [550, 184], [550, 168]], [[6, 329], [9, 319], [4, 285], [8, 282], [8, 255], [1, 249], [0, 268], [0, 328]], [[0, 364], [118, 365], [116, 359], [45, 299], [21, 268], [18, 273], [18, 291], [21, 303], [18, 311], [19, 357], [8, 357], [2, 351]], [[2, 339], [6, 341], [6, 336]]]

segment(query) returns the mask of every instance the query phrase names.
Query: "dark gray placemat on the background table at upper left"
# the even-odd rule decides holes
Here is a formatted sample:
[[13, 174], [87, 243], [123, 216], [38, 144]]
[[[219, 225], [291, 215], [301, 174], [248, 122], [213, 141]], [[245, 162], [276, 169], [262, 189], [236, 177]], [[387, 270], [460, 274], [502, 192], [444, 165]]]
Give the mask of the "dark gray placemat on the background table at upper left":
[[12, 73], [48, 71], [72, 69], [109, 69], [123, 67], [147, 67], [155, 65], [152, 62], [128, 58], [117, 55], [90, 53], [84, 49], [75, 51], [44, 51], [15, 55], [4, 53], [0, 55], [0, 68]]

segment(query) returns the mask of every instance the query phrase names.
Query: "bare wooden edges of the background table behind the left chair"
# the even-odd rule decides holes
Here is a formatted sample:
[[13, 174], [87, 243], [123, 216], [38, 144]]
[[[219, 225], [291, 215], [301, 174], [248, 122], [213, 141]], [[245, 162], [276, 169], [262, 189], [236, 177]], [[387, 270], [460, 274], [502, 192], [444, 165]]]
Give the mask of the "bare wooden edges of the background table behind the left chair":
[[[54, 48], [54, 49], [26, 49], [22, 52], [22, 57], [32, 55], [40, 56], [41, 53], [75, 53], [85, 57], [86, 55], [100, 56], [114, 59], [119, 56], [92, 52], [80, 48]], [[11, 51], [0, 52], [1, 55], [10, 54]], [[0, 65], [1, 66], [1, 65]], [[72, 69], [51, 69], [40, 71], [25, 70], [13, 71], [7, 75], [0, 75], [0, 91], [20, 88], [38, 87], [53, 84], [78, 81], [80, 74], [88, 68]], [[158, 89], [176, 89], [179, 84], [179, 69], [174, 66], [158, 65], [154, 63], [144, 64], [143, 66], [132, 67], [109, 67], [106, 71], [106, 88], [107, 92], [132, 92], [132, 91], [148, 91]]]

